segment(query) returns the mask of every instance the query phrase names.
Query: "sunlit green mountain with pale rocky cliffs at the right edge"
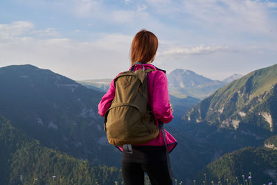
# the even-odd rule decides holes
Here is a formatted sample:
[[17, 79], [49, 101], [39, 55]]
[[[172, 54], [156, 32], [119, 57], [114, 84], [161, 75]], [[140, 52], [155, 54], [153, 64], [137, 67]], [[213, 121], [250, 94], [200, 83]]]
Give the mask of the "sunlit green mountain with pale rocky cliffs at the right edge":
[[277, 129], [277, 64], [253, 71], [215, 91], [184, 116], [186, 123], [206, 123], [244, 134]]

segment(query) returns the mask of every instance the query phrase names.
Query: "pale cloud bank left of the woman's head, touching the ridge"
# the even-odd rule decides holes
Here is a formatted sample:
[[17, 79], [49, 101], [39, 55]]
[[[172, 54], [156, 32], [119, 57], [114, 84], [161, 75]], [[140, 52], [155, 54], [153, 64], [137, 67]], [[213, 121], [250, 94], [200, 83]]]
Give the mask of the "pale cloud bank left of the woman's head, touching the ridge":
[[[66, 37], [42, 39], [36, 35], [24, 36], [30, 28], [34, 29], [33, 24], [14, 25], [12, 23], [0, 26], [0, 67], [10, 64], [33, 64], [75, 80], [112, 78], [119, 71], [125, 71], [129, 67], [129, 46], [132, 37], [128, 35], [102, 34], [94, 42], [78, 42]], [[15, 31], [14, 27], [18, 30]], [[28, 29], [24, 31], [19, 28]], [[10, 31], [14, 34], [2, 37]], [[45, 32], [47, 33], [47, 29], [33, 30], [37, 35]], [[2, 39], [5, 39], [5, 42], [2, 42]]]

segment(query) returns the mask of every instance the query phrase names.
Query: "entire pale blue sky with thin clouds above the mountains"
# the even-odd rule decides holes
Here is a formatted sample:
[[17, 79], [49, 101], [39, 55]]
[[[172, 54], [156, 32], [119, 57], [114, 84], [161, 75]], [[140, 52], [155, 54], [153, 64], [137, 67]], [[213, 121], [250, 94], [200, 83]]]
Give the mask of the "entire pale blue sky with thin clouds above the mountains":
[[153, 64], [168, 73], [223, 80], [277, 64], [277, 0], [1, 0], [0, 67], [114, 78], [141, 29], [157, 35]]

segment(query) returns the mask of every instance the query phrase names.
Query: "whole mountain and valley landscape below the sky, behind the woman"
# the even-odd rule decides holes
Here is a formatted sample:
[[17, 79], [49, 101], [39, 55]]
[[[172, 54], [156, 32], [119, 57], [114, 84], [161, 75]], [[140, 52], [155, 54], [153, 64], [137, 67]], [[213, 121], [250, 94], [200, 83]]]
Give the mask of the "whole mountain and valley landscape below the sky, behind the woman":
[[[276, 183], [263, 172], [277, 163], [277, 64], [232, 79], [211, 80], [183, 69], [168, 74], [175, 118], [166, 129], [178, 141], [170, 157], [175, 177], [184, 184], [202, 182], [204, 173], [209, 181], [228, 178], [235, 184], [235, 177], [249, 171], [257, 183]], [[65, 184], [71, 178], [75, 182], [79, 175], [73, 173], [82, 168], [83, 184], [86, 178], [94, 178], [93, 184], [121, 182], [120, 152], [107, 143], [97, 114], [110, 82], [75, 82], [32, 65], [0, 68], [0, 143], [8, 148], [1, 150], [0, 165], [10, 169], [0, 179], [15, 184], [24, 173], [26, 182], [39, 177], [44, 184], [45, 174], [62, 174]], [[31, 168], [35, 161], [37, 167]], [[39, 170], [44, 164], [48, 170]], [[220, 173], [222, 168], [228, 173]]]

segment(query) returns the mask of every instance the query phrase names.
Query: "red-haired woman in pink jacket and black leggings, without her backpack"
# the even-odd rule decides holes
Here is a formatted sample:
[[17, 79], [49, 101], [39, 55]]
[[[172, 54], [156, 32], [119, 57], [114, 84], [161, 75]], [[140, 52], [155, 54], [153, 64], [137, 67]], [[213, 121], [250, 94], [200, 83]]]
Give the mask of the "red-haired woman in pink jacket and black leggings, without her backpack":
[[[172, 121], [172, 108], [168, 96], [168, 81], [166, 71], [152, 65], [158, 49], [157, 37], [148, 30], [136, 33], [131, 47], [130, 59], [132, 66], [141, 62], [145, 69], [154, 69], [148, 73], [148, 104], [154, 114], [157, 126], [160, 123]], [[134, 69], [141, 69], [135, 64]], [[130, 68], [131, 69], [131, 68]], [[98, 113], [105, 116], [115, 96], [114, 80], [111, 82], [107, 94], [102, 97], [98, 105]], [[177, 141], [168, 132], [159, 131], [159, 135], [148, 143], [132, 146], [132, 153], [120, 148], [122, 156], [122, 173], [125, 185], [143, 185], [144, 173], [147, 173], [152, 185], [172, 184], [168, 152], [177, 145]], [[165, 145], [166, 143], [166, 145]], [[168, 152], [167, 152], [168, 150]]]

